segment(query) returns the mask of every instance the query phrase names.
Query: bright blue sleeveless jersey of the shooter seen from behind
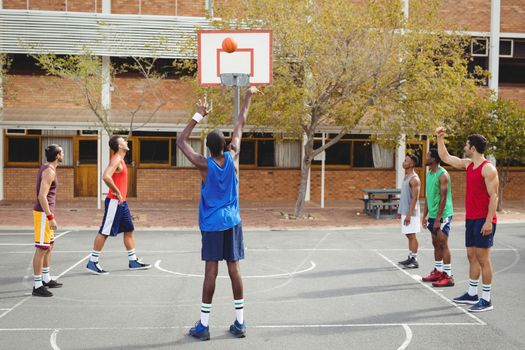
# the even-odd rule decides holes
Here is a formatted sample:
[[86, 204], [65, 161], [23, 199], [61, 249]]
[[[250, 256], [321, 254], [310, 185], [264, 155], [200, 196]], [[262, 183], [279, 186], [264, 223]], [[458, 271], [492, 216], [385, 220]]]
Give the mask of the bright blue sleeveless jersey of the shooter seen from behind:
[[224, 231], [241, 222], [239, 180], [230, 152], [224, 152], [224, 166], [209, 157], [206, 183], [201, 183], [199, 227], [201, 231]]

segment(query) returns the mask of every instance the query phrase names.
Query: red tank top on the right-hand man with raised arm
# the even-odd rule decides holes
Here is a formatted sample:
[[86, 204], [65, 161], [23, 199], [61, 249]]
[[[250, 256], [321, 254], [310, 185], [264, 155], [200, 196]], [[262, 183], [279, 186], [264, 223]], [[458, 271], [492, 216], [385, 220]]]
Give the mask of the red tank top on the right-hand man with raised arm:
[[[489, 212], [490, 196], [487, 192], [485, 179], [481, 175], [481, 171], [487, 163], [489, 161], [485, 159], [476, 169], [474, 169], [474, 162], [467, 167], [465, 210], [466, 218], [469, 220], [485, 219]], [[494, 214], [492, 222], [497, 222], [496, 214]]]

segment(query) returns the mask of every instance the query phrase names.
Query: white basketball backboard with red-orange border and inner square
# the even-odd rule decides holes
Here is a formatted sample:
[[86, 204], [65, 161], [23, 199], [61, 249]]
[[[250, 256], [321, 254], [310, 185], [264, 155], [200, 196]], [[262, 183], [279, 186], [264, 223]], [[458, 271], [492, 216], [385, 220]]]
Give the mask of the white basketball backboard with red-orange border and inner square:
[[[225, 38], [233, 38], [237, 50], [222, 49]], [[220, 85], [222, 73], [250, 75], [250, 85], [272, 83], [272, 32], [270, 30], [200, 30], [198, 32], [199, 83]]]

